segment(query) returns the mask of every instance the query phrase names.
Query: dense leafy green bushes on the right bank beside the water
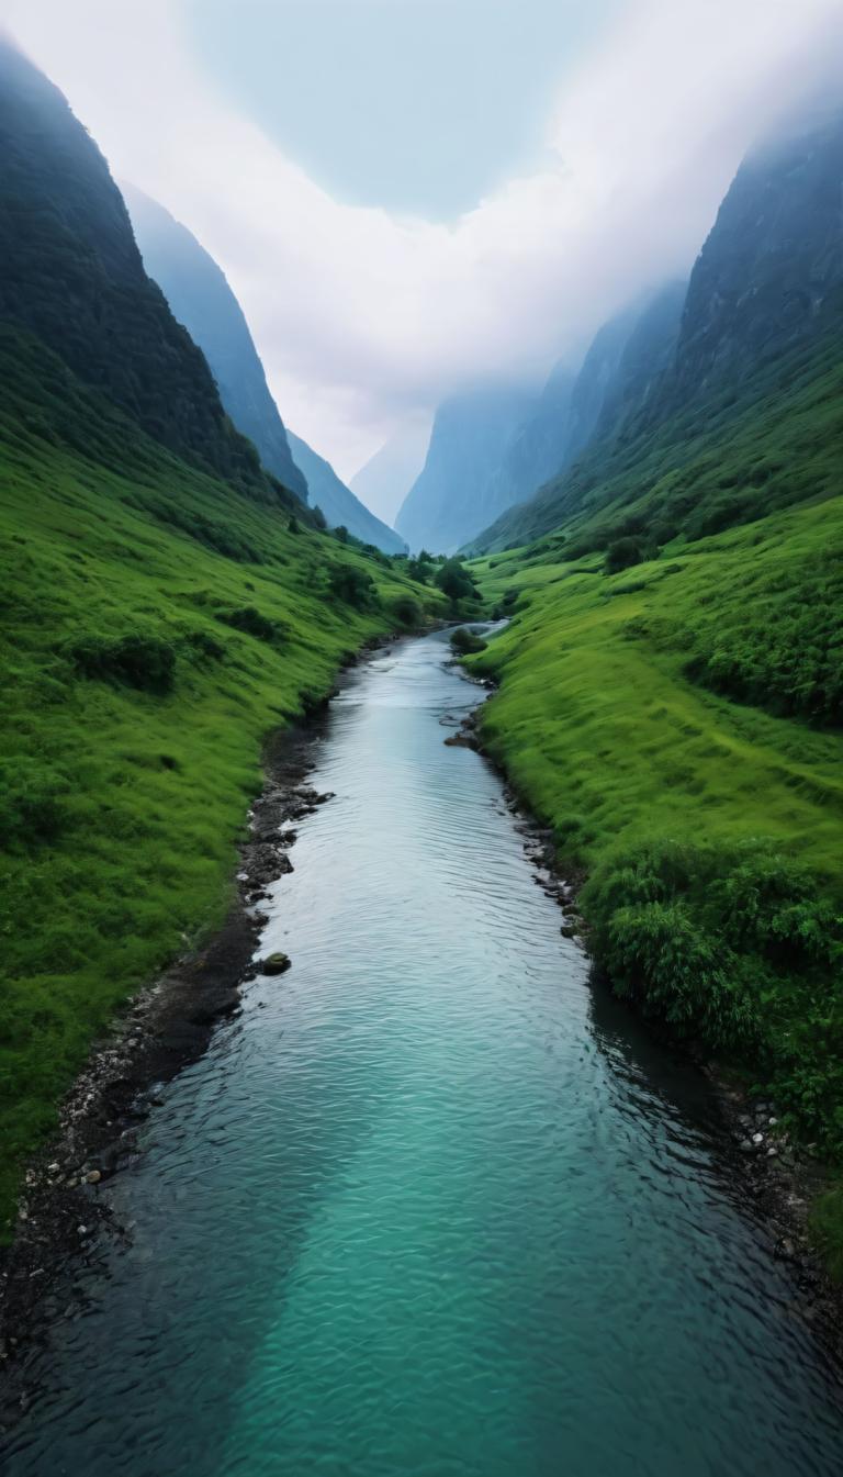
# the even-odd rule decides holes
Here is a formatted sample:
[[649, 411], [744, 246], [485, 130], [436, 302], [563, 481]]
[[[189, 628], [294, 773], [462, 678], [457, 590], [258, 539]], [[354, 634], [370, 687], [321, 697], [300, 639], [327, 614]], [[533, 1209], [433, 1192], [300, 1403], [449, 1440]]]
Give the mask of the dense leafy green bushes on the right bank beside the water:
[[803, 1133], [843, 1152], [843, 917], [762, 842], [660, 842], [583, 888], [619, 994], [750, 1065]]

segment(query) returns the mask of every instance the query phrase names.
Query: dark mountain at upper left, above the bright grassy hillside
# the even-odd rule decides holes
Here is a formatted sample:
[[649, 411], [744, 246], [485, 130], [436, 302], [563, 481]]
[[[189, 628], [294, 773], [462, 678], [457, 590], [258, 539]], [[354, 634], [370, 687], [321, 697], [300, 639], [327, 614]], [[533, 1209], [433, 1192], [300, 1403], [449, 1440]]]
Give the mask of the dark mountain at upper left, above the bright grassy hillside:
[[252, 496], [288, 499], [230, 425], [204, 354], [143, 270], [96, 143], [58, 87], [3, 37], [0, 318], [34, 334], [170, 450]]

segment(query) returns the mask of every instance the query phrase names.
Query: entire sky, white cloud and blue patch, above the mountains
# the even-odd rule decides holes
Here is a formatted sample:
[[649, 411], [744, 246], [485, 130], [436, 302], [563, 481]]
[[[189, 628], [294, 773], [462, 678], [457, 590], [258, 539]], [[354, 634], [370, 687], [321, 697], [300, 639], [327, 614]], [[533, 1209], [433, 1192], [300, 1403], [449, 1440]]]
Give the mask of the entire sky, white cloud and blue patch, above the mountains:
[[0, 0], [351, 477], [687, 273], [843, 0]]

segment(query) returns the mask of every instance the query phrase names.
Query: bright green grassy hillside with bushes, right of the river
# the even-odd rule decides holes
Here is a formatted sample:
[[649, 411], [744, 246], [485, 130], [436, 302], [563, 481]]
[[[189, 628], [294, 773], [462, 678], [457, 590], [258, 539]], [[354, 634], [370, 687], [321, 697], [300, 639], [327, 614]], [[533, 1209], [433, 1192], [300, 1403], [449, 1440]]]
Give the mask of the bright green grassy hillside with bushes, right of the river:
[[[728, 452], [720, 471], [740, 490]], [[586, 874], [619, 993], [843, 1162], [843, 499], [614, 575], [554, 544], [472, 566], [514, 610], [468, 659], [500, 681], [486, 744]], [[822, 1233], [843, 1267], [842, 1199]]]

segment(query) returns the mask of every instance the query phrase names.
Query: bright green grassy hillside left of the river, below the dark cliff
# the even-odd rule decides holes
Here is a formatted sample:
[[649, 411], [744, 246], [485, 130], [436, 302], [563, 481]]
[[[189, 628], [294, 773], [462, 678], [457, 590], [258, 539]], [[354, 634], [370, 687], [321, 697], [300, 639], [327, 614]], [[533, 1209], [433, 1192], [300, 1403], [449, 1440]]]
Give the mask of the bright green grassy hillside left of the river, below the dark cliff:
[[221, 917], [267, 733], [399, 597], [443, 597], [180, 462], [9, 329], [0, 383], [7, 1229], [92, 1037]]

